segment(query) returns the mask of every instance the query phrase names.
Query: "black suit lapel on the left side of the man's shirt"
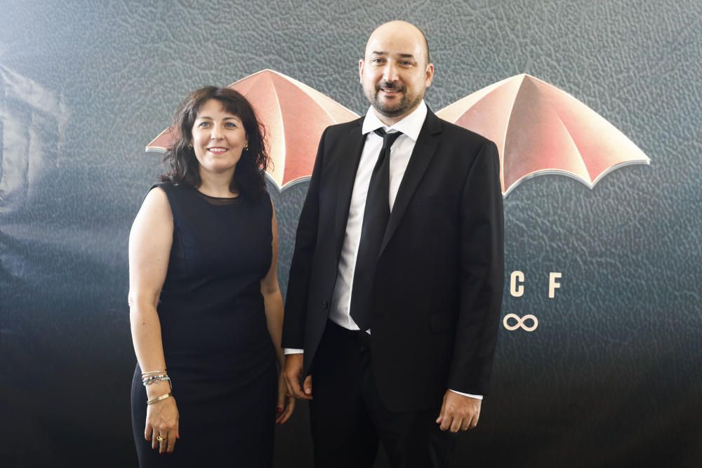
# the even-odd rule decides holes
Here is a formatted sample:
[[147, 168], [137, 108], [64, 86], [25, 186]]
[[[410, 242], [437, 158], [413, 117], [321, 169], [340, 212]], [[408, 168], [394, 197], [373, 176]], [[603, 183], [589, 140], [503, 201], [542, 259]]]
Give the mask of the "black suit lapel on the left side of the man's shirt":
[[336, 199], [336, 217], [334, 220], [334, 241], [336, 246], [336, 260], [338, 262], [343, 246], [344, 235], [346, 232], [346, 221], [348, 220], [349, 208], [351, 206], [351, 194], [353, 192], [354, 181], [356, 180], [356, 171], [358, 163], [361, 161], [363, 145], [366, 142], [365, 135], [361, 133], [363, 118], [357, 120], [357, 126], [354, 126], [348, 133], [346, 141], [340, 148], [344, 154], [340, 155], [339, 173], [337, 177], [338, 191]]

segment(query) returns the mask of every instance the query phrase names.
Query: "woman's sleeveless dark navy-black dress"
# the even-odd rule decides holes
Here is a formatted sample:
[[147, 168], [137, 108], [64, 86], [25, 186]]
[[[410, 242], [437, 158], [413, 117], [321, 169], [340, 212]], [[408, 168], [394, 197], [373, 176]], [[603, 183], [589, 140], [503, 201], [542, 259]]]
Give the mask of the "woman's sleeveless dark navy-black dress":
[[180, 439], [162, 455], [144, 439], [147, 395], [137, 365], [131, 403], [140, 467], [270, 467], [277, 368], [260, 293], [272, 256], [270, 198], [154, 187], [166, 192], [173, 213], [157, 310]]

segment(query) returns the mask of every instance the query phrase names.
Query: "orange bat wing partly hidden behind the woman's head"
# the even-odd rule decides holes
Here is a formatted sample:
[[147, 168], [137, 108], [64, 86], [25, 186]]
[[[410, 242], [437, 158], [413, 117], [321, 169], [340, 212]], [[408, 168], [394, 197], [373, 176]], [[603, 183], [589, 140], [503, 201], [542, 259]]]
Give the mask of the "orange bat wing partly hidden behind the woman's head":
[[[327, 126], [358, 118], [319, 91], [270, 69], [229, 88], [246, 96], [266, 128], [273, 162], [266, 175], [280, 191], [312, 175], [319, 138]], [[164, 152], [172, 141], [173, 131], [166, 128], [146, 150]]]

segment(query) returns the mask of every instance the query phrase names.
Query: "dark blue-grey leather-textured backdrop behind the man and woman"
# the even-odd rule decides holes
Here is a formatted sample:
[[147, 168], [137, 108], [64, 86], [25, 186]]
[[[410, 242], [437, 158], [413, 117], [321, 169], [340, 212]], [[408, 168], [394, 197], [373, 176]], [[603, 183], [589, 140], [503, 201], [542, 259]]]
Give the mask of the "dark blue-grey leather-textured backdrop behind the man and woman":
[[[494, 394], [453, 466], [702, 466], [698, 0], [1, 0], [2, 467], [136, 464], [127, 237], [160, 171], [144, 147], [178, 102], [271, 68], [361, 114], [357, 60], [394, 18], [429, 37], [432, 109], [529, 73], [651, 158], [592, 190], [553, 175], [505, 199], [507, 271], [527, 286], [503, 315], [540, 325], [501, 329]], [[272, 189], [283, 286], [306, 189]], [[276, 458], [311, 466], [304, 405]]]

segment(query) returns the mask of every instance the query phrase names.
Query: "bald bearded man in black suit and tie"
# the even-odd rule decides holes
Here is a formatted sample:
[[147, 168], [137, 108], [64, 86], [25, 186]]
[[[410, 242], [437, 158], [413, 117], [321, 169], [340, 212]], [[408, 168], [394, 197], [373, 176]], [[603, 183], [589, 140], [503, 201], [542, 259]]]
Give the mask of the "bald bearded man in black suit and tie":
[[[434, 65], [402, 21], [371, 34], [366, 116], [331, 126], [300, 214], [284, 373], [317, 468], [444, 467], [489, 389], [503, 288], [493, 142], [425, 105]], [[314, 387], [312, 385], [314, 382]]]

